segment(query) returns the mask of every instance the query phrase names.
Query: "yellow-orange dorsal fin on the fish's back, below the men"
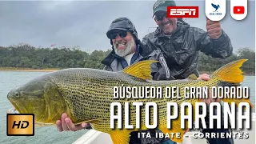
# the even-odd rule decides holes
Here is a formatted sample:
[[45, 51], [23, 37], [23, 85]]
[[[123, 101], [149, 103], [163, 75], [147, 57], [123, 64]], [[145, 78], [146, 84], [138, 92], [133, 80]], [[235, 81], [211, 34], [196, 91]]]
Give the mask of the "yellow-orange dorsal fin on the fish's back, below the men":
[[144, 80], [152, 80], [150, 65], [153, 62], [158, 62], [158, 61], [145, 60], [145, 61], [137, 62], [131, 66], [126, 67], [126, 69], [122, 70], [122, 72], [124, 72], [125, 74], [132, 75], [136, 78], [141, 78]]

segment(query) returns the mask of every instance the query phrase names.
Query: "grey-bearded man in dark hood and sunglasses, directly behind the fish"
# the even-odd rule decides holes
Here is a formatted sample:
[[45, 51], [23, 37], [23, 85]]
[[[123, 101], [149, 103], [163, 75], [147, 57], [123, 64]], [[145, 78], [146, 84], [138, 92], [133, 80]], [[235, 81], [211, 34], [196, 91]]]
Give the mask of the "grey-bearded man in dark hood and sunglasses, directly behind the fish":
[[150, 51], [142, 45], [130, 19], [125, 17], [115, 19], [110, 24], [106, 36], [110, 39], [112, 51], [102, 60], [102, 64], [106, 65], [104, 70], [120, 71], [136, 62], [152, 59], [159, 61], [151, 64], [151, 74], [154, 80], [174, 79], [170, 76], [170, 70], [160, 50]]

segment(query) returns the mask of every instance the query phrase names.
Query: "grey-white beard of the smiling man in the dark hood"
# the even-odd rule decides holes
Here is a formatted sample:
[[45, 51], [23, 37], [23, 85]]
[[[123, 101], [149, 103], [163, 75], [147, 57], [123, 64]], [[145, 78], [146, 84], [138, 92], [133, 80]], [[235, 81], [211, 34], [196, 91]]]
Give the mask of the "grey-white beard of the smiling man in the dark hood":
[[126, 48], [120, 50], [120, 49], [118, 49], [118, 48], [116, 47], [116, 45], [117, 45], [118, 43], [120, 43], [120, 42], [115, 42], [115, 43], [113, 44], [113, 46], [114, 46], [114, 52], [115, 52], [115, 54], [118, 54], [118, 56], [120, 56], [120, 57], [124, 57], [124, 56], [130, 54], [131, 51], [133, 50], [134, 45], [135, 45], [134, 39], [131, 39], [129, 42], [126, 42]]

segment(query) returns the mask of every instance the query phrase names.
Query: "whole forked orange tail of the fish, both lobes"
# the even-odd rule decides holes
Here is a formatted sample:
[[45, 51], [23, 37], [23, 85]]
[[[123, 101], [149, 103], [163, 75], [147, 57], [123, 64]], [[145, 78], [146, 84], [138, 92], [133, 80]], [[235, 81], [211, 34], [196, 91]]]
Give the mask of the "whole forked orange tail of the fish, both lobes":
[[[244, 75], [240, 67], [242, 66], [243, 62], [246, 62], [248, 59], [240, 59], [238, 61], [230, 62], [225, 66], [222, 66], [218, 70], [214, 71], [212, 74], [212, 78], [217, 78], [218, 86], [240, 86], [240, 82], [243, 82]], [[238, 91], [236, 90], [236, 93]], [[239, 92], [238, 92], [239, 94]], [[237, 94], [236, 94], [237, 95]], [[235, 102], [236, 105], [240, 102], [248, 102], [250, 106], [254, 107], [254, 105], [250, 102], [250, 98], [222, 98], [223, 102]]]

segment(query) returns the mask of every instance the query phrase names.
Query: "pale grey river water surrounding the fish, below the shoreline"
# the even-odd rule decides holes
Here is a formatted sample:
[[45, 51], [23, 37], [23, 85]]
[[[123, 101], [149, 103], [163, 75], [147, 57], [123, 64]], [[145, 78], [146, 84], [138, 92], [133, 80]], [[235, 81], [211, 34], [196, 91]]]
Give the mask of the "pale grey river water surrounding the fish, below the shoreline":
[[[13, 107], [6, 95], [15, 86], [28, 82], [47, 72], [0, 71], [0, 143], [72, 143], [87, 130], [58, 132], [56, 126], [36, 127], [34, 137], [6, 136], [6, 110]], [[250, 101], [255, 105], [255, 77], [246, 76], [242, 86], [250, 87]]]

